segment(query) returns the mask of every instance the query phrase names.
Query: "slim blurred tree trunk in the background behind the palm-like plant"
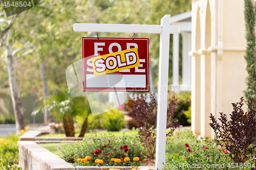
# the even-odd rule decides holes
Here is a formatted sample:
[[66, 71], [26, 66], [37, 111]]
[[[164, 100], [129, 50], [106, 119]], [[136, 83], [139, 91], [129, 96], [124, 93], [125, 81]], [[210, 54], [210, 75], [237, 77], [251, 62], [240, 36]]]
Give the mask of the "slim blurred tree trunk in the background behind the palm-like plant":
[[[49, 96], [48, 94], [48, 85], [47, 85], [47, 81], [46, 81], [46, 77], [45, 77], [45, 61], [42, 61], [40, 63], [40, 69], [41, 69], [41, 82], [42, 82], [42, 92], [44, 93], [44, 96], [47, 97]], [[46, 104], [46, 99], [44, 99], [44, 105]], [[50, 123], [50, 113], [49, 111], [46, 109], [45, 113], [44, 113], [44, 123], [48, 124]]]

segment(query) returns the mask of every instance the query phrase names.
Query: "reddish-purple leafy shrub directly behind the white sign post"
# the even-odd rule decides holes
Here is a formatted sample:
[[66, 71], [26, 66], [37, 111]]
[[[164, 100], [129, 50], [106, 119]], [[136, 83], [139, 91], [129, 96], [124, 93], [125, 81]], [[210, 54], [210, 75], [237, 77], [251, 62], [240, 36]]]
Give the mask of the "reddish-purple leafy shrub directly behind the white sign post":
[[[139, 97], [140, 96], [140, 97]], [[174, 112], [178, 106], [177, 99], [173, 98], [169, 100], [169, 107], [167, 108], [167, 122], [166, 129], [170, 128], [170, 132], [173, 132], [175, 128], [179, 127], [178, 121], [172, 123]], [[150, 159], [155, 157], [156, 151], [156, 128], [157, 128], [157, 99], [155, 94], [151, 95], [150, 103], [146, 102], [146, 95], [138, 95], [134, 98], [134, 103], [129, 111], [130, 115], [139, 124], [139, 138], [147, 148], [147, 154]], [[172, 136], [173, 133], [167, 133], [166, 137]]]

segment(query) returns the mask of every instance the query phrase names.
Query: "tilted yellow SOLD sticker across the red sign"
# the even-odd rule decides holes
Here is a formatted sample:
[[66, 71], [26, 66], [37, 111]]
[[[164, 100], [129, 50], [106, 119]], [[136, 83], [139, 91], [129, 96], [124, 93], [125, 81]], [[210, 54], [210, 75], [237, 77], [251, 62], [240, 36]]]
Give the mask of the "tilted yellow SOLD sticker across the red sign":
[[94, 76], [140, 66], [138, 49], [131, 48], [92, 58]]

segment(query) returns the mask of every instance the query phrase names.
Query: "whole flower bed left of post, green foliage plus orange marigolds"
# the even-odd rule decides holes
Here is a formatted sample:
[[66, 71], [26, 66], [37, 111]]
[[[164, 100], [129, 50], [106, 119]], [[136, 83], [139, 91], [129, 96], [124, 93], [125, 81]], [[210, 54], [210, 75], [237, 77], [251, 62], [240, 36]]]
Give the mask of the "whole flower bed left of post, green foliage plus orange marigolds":
[[61, 158], [74, 166], [140, 166], [146, 151], [137, 136], [112, 134], [85, 138], [72, 146], [61, 147]]

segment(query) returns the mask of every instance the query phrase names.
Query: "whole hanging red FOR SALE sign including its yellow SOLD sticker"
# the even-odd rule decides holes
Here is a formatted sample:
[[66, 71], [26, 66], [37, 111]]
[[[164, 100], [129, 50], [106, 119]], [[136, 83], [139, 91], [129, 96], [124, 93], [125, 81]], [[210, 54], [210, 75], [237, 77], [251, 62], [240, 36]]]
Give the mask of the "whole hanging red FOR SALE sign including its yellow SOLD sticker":
[[148, 38], [82, 38], [82, 50], [83, 91], [149, 91]]

